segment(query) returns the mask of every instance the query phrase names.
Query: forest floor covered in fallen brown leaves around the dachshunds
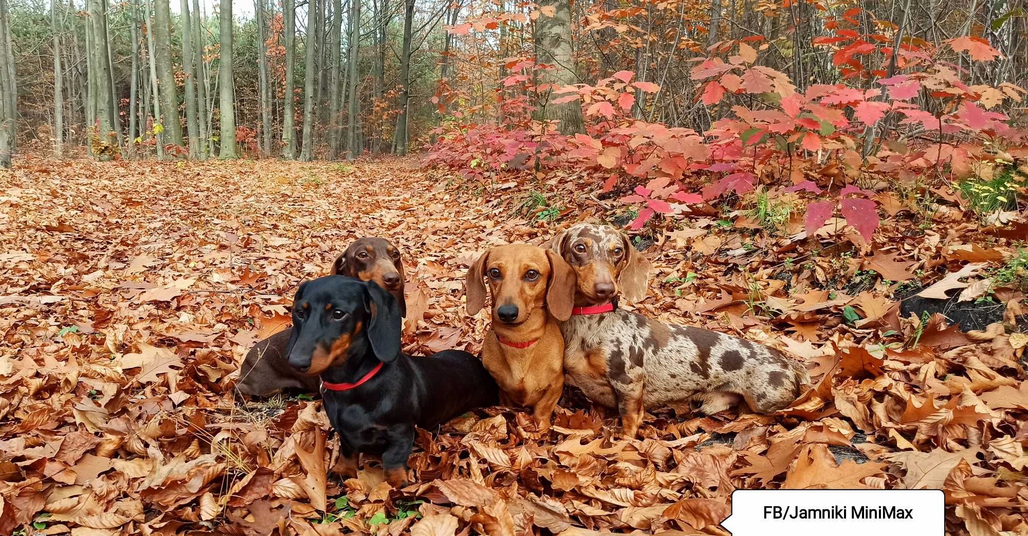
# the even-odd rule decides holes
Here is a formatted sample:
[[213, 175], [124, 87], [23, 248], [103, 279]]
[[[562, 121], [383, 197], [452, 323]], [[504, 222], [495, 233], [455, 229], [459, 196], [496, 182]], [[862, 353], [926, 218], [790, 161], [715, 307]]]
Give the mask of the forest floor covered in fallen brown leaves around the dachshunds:
[[[297, 283], [364, 235], [405, 252], [407, 349], [477, 352], [478, 252], [630, 217], [581, 181], [483, 187], [413, 159], [0, 171], [0, 534], [726, 534], [731, 492], [765, 487], [942, 488], [947, 532], [1028, 532], [1024, 224], [983, 230], [952, 189], [928, 225], [879, 199], [873, 244], [746, 209], [637, 239], [655, 266], [637, 309], [807, 362], [815, 385], [779, 415], [648, 414], [628, 441], [574, 393], [546, 432], [490, 408], [420, 432], [414, 484], [391, 491], [374, 460], [326, 477], [317, 398], [233, 397]], [[972, 298], [901, 303], [935, 282]]]

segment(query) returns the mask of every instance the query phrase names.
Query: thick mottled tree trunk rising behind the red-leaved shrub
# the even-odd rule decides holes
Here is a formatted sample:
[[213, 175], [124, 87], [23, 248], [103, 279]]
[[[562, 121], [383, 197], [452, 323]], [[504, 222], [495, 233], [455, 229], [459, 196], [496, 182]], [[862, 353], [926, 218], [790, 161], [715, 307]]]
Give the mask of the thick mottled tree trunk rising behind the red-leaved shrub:
[[[539, 64], [551, 64], [554, 69], [539, 73], [541, 84], [567, 85], [578, 83], [575, 58], [572, 50], [572, 9], [570, 0], [541, 0], [540, 9], [552, 6], [553, 16], [542, 15], [536, 21], [536, 58]], [[558, 120], [561, 133], [572, 135], [585, 131], [582, 105], [578, 102], [554, 105], [550, 103], [552, 89], [543, 91], [545, 111], [543, 118]]]

